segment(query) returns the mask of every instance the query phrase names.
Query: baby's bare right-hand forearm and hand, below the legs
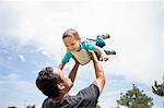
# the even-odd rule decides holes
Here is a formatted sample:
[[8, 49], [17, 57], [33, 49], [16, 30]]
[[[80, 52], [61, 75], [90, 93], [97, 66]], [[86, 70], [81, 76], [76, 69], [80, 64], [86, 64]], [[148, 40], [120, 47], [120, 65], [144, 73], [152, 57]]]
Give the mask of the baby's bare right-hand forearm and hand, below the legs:
[[95, 46], [94, 51], [96, 51], [101, 55], [101, 58], [99, 58], [101, 61], [107, 61], [108, 60], [108, 56], [98, 46]]

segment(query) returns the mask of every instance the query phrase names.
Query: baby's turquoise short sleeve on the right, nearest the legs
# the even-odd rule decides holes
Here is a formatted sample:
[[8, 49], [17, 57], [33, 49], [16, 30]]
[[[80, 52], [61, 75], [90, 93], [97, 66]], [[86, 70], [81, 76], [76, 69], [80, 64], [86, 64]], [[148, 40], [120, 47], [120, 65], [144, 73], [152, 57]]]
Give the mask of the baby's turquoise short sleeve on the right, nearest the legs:
[[81, 46], [85, 49], [85, 50], [94, 50], [95, 49], [95, 44], [90, 41], [90, 40], [83, 40], [81, 41]]

